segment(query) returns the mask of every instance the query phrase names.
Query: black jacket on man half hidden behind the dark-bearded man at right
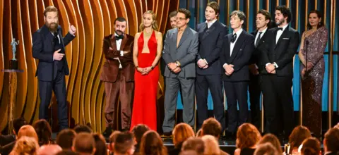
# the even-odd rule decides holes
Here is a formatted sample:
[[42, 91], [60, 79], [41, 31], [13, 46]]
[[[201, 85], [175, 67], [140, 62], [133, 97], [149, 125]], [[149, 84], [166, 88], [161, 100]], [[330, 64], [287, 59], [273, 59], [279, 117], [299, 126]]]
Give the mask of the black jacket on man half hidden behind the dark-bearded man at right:
[[256, 66], [258, 66], [259, 73], [267, 73], [266, 64], [263, 62], [263, 60], [261, 58], [262, 53], [263, 53], [261, 48], [265, 48], [266, 44], [269, 42], [270, 38], [268, 38], [268, 30], [269, 29], [267, 29], [266, 32], [261, 36], [257, 46], [255, 46], [255, 44], [256, 44], [255, 39], [256, 39], [256, 35], [258, 34], [258, 30], [251, 32], [251, 35], [254, 36], [254, 46], [255, 46], [255, 48], [254, 48], [253, 54], [251, 56], [250, 63], [251, 64], [255, 63]]

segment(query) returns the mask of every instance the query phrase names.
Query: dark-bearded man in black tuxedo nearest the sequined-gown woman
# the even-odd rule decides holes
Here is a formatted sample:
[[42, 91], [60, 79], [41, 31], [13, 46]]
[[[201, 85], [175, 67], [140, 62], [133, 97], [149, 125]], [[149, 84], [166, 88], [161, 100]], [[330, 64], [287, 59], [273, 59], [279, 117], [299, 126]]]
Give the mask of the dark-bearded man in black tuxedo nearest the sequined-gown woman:
[[[270, 42], [263, 48], [261, 60], [266, 75], [263, 75], [263, 101], [266, 116], [266, 132], [278, 134], [278, 123], [283, 123], [285, 138], [288, 138], [293, 125], [293, 56], [299, 46], [299, 32], [289, 27], [292, 18], [290, 8], [275, 8], [275, 24], [278, 27], [268, 30]], [[283, 121], [280, 121], [283, 113]]]

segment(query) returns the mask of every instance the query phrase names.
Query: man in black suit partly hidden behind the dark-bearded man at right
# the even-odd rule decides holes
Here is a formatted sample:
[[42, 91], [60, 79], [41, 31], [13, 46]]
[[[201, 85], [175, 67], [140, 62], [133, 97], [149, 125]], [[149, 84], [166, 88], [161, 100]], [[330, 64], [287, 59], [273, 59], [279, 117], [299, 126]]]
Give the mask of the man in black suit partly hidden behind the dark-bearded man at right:
[[260, 128], [260, 74], [262, 70], [265, 68], [258, 68], [258, 66], [262, 66], [260, 56], [261, 51], [259, 50], [260, 46], [265, 46], [265, 42], [268, 41], [267, 33], [268, 24], [270, 23], [270, 13], [266, 10], [260, 10], [256, 14], [256, 31], [251, 32], [251, 34], [255, 37], [254, 53], [251, 57], [251, 65], [249, 66], [249, 101], [251, 109], [251, 123], [256, 126], [256, 128]]

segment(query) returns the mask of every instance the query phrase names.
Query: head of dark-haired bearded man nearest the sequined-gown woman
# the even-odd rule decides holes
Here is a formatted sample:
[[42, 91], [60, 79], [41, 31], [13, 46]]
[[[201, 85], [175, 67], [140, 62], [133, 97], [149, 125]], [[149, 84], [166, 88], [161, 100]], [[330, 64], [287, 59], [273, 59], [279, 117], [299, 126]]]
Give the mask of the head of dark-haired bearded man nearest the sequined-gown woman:
[[277, 6], [275, 8], [275, 24], [285, 25], [292, 20], [292, 12], [287, 6]]

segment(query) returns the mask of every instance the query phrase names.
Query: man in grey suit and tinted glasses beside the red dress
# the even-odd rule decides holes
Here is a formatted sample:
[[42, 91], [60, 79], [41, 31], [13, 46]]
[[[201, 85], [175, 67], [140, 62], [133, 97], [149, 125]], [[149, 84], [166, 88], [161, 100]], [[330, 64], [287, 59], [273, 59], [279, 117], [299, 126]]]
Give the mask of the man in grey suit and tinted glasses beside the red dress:
[[198, 33], [187, 26], [191, 13], [180, 8], [177, 13], [177, 28], [166, 35], [162, 58], [165, 68], [165, 118], [162, 125], [164, 135], [171, 135], [175, 123], [179, 85], [182, 87], [184, 123], [194, 127], [194, 80], [196, 77], [196, 54]]

